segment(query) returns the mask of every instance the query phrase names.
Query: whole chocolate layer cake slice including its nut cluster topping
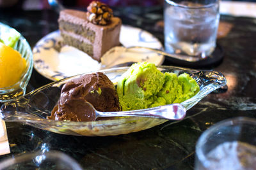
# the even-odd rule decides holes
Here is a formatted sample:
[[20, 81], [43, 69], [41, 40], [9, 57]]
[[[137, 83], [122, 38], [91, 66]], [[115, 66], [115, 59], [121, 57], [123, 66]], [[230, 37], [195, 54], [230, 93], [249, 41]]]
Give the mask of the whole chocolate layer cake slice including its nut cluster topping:
[[122, 21], [113, 17], [106, 4], [93, 1], [87, 13], [78, 10], [60, 12], [59, 27], [63, 44], [82, 50], [100, 62], [100, 57], [113, 46], [119, 45]]

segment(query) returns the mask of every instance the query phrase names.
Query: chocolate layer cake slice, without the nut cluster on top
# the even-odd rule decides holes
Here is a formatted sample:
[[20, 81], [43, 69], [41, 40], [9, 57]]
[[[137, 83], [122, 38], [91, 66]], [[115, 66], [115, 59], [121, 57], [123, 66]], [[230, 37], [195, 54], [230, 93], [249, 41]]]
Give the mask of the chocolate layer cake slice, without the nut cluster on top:
[[[100, 57], [102, 57], [105, 52], [114, 46], [120, 45], [119, 36], [122, 25], [120, 18], [111, 18], [111, 23], [108, 25], [95, 25], [87, 20], [86, 12], [84, 11], [63, 10], [60, 12], [60, 18], [58, 22], [60, 23], [61, 34], [72, 34], [73, 39], [78, 39], [81, 42], [84, 42], [84, 39], [88, 39], [88, 41], [92, 42], [93, 52], [92, 55], [89, 53], [88, 55], [90, 55], [93, 59], [98, 60], [99, 62]], [[95, 32], [94, 38], [92, 32]], [[77, 34], [77, 36], [74, 36], [74, 34]], [[92, 39], [94, 39], [94, 41]], [[72, 41], [71, 38], [65, 39], [64, 37], [64, 43], [67, 43], [67, 41], [70, 40]], [[70, 44], [70, 42], [68, 43]], [[81, 45], [79, 45], [79, 49], [87, 48], [81, 47]]]

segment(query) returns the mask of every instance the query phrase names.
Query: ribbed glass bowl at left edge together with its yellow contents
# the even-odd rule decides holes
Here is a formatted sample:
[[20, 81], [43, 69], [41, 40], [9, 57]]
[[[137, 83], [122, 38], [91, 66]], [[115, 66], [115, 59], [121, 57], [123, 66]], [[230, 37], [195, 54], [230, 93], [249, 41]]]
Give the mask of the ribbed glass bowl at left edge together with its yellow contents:
[[28, 41], [15, 29], [0, 22], [0, 102], [26, 93], [33, 69]]

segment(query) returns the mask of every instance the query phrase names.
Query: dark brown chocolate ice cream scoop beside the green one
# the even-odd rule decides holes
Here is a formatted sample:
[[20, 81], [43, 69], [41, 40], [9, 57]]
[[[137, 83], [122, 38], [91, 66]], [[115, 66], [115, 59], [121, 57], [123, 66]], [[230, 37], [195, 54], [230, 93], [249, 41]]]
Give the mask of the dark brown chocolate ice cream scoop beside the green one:
[[76, 122], [95, 120], [95, 112], [86, 102], [98, 111], [120, 111], [113, 83], [108, 76], [98, 72], [66, 83], [61, 89], [58, 104], [48, 118]]

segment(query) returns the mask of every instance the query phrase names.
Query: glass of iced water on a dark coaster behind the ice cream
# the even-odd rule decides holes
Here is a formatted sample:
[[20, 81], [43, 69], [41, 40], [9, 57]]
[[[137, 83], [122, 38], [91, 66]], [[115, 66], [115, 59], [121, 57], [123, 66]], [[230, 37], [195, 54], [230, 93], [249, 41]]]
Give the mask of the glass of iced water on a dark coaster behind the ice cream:
[[165, 0], [164, 46], [182, 60], [197, 61], [216, 47], [220, 20], [219, 0]]

